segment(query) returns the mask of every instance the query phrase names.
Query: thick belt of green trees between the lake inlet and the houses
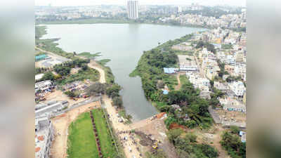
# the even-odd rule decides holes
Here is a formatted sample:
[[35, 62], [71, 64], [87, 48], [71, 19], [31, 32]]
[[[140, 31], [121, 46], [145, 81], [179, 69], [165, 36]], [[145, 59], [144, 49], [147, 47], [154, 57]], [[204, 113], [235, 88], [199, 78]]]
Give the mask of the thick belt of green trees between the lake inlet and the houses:
[[[200, 98], [200, 91], [195, 89], [184, 75], [180, 78], [183, 81], [181, 89], [174, 91], [174, 86], [178, 84], [176, 77], [163, 72], [163, 67], [173, 66], [178, 62], [176, 53], [171, 49], [171, 46], [188, 41], [191, 37], [192, 34], [188, 34], [181, 39], [167, 41], [151, 51], [144, 51], [136, 70], [131, 73], [131, 76], [138, 74], [141, 77], [146, 98], [151, 100], [158, 110], [167, 112], [168, 118], [165, 123], [168, 128], [172, 123], [189, 128], [201, 126], [204, 129], [209, 128], [212, 124], [208, 112], [209, 100]], [[158, 88], [159, 80], [169, 87], [168, 95], [164, 95], [162, 90]], [[181, 107], [181, 112], [176, 112], [174, 107], [171, 107], [174, 104]]]

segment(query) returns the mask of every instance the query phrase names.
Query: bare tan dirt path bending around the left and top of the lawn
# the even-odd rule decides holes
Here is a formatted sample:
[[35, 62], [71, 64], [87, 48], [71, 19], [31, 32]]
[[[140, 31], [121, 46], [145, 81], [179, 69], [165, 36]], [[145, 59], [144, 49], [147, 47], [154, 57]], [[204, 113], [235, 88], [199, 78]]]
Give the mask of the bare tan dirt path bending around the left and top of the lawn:
[[74, 121], [79, 114], [87, 112], [94, 107], [100, 107], [100, 102], [93, 102], [87, 105], [77, 107], [74, 110], [62, 114], [58, 117], [51, 119], [53, 124], [53, 129], [55, 131], [55, 138], [51, 146], [51, 157], [56, 158], [66, 158], [67, 157], [67, 129], [68, 126]]

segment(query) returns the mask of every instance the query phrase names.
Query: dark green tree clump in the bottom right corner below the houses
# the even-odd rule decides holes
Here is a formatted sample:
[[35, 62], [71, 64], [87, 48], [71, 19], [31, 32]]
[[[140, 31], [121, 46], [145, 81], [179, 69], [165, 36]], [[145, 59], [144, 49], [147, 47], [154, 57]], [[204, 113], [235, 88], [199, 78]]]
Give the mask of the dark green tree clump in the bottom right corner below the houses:
[[230, 157], [246, 158], [246, 143], [241, 142], [237, 129], [231, 128], [230, 131], [224, 131], [220, 143], [228, 151]]

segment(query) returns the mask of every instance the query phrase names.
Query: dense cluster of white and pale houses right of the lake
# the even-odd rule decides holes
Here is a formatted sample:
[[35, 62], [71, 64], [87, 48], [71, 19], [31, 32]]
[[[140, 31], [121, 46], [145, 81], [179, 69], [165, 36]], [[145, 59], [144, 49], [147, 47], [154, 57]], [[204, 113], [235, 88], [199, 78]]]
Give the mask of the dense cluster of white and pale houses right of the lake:
[[[164, 73], [177, 74], [185, 72], [186, 77], [195, 88], [200, 89], [200, 97], [211, 99], [211, 81], [214, 88], [220, 90], [225, 95], [218, 98], [222, 107], [221, 110], [230, 114], [231, 118], [226, 118], [228, 115], [220, 115], [216, 109], [209, 109], [214, 121], [217, 124], [222, 124], [223, 127], [239, 126], [240, 129], [245, 129], [244, 121], [233, 119], [238, 112], [245, 114], [247, 112], [245, 99], [246, 87], [246, 34], [241, 32], [233, 32], [228, 29], [211, 29], [207, 32], [193, 34], [192, 39], [188, 42], [183, 42], [172, 46], [178, 51], [197, 51], [193, 55], [178, 55], [178, 67], [165, 67]], [[205, 46], [203, 48], [195, 48], [198, 41], [213, 44], [216, 52], [213, 53]], [[224, 67], [223, 67], [223, 66]], [[223, 72], [223, 75], [218, 77], [218, 74]], [[228, 72], [228, 73], [226, 73]], [[231, 79], [228, 79], [231, 77]], [[164, 92], [167, 94], [168, 92]], [[181, 115], [181, 108], [178, 105], [172, 105], [178, 117]], [[188, 119], [188, 116], [186, 116]], [[241, 131], [241, 140], [246, 142], [246, 134]]]

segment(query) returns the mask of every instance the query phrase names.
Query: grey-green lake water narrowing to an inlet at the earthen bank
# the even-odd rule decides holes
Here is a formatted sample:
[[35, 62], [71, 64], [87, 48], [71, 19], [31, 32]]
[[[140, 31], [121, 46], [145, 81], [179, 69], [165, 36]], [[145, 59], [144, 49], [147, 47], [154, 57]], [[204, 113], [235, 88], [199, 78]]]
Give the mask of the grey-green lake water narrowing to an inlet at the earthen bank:
[[60, 38], [59, 47], [67, 52], [101, 52], [100, 59], [110, 59], [115, 81], [122, 86], [125, 110], [133, 121], [151, 117], [157, 113], [146, 100], [140, 77], [129, 77], [143, 51], [155, 48], [170, 39], [205, 29], [145, 24], [92, 24], [92, 25], [46, 25], [46, 38]]

